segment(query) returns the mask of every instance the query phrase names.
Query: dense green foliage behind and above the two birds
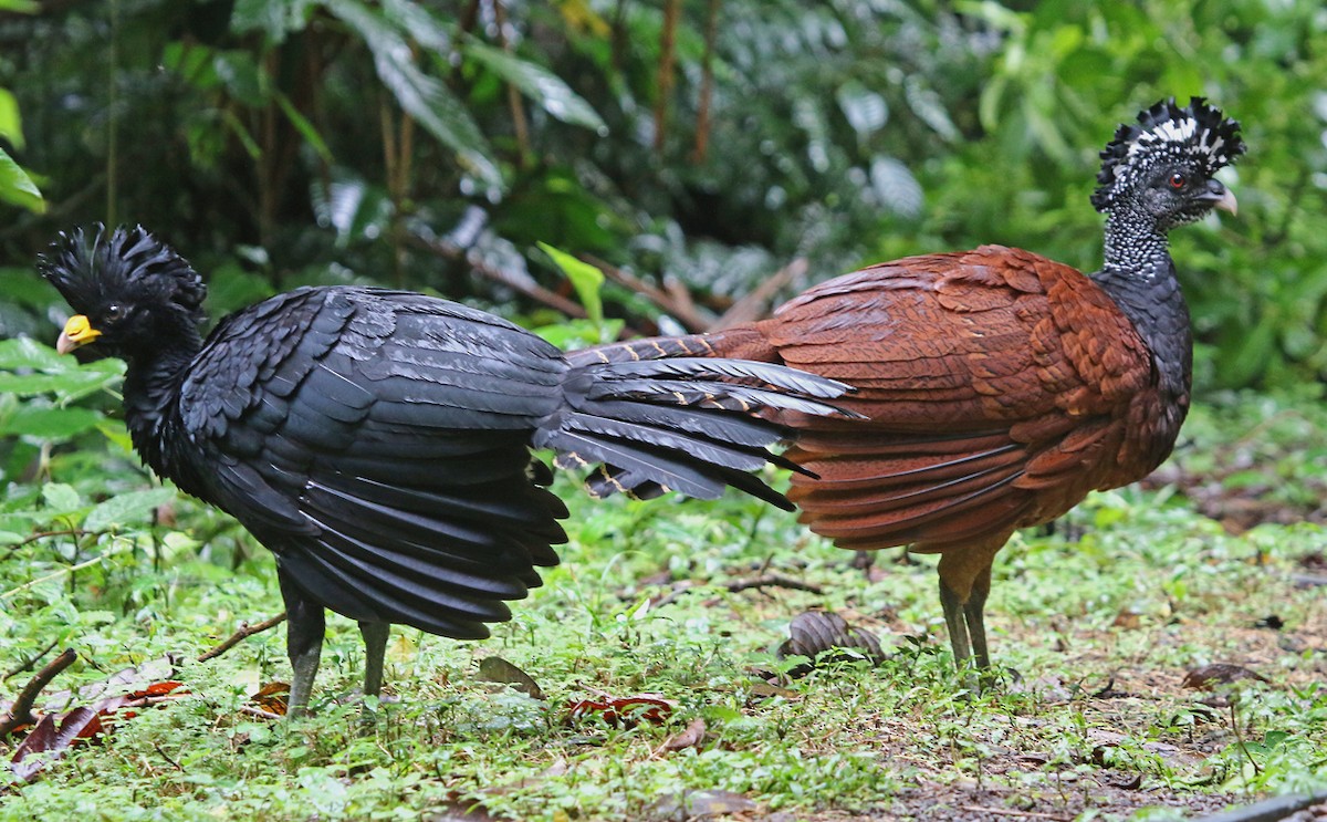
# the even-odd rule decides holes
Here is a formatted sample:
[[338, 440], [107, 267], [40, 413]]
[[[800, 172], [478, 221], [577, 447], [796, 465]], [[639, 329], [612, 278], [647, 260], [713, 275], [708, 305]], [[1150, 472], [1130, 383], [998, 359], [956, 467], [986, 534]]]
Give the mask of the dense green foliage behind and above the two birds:
[[[21, 150], [65, 219], [105, 202], [170, 226], [203, 268], [259, 246], [245, 266], [273, 287], [312, 272], [528, 309], [466, 259], [557, 276], [548, 242], [683, 283], [717, 313], [794, 258], [820, 280], [1001, 242], [1092, 270], [1096, 151], [1154, 100], [1205, 94], [1250, 151], [1229, 173], [1239, 218], [1173, 238], [1200, 386], [1327, 369], [1327, 58], [1308, 0], [725, 0], [675, 21], [608, 0], [184, 9], [11, 24], [5, 82], [40, 116], [24, 142], [0, 96], [0, 197], [40, 207]], [[109, 84], [89, 54], [115, 61]], [[29, 219], [0, 243], [27, 259], [49, 232]], [[438, 239], [460, 252], [439, 260]], [[636, 295], [605, 300], [626, 325], [669, 327]]]

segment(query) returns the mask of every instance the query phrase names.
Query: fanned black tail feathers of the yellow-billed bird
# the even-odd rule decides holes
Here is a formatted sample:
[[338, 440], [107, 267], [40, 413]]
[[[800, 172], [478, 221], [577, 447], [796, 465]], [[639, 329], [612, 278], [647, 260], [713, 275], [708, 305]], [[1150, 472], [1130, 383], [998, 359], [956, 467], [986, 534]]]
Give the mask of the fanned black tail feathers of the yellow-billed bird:
[[596, 497], [674, 490], [713, 499], [731, 486], [791, 510], [750, 473], [767, 462], [808, 473], [767, 450], [791, 434], [775, 417], [853, 416], [824, 402], [851, 386], [783, 365], [695, 356], [706, 353], [695, 340], [703, 343], [657, 339], [573, 352], [564, 405], [540, 422], [535, 445], [555, 449], [559, 467], [601, 463], [587, 481]]

